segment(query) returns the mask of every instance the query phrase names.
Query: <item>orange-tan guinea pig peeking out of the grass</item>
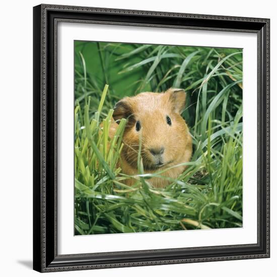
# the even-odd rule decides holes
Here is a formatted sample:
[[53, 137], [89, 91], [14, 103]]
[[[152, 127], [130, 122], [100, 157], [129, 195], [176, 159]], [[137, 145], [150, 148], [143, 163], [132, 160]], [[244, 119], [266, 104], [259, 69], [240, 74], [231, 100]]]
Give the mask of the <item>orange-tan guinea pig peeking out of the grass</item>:
[[[181, 113], [185, 107], [186, 93], [170, 88], [166, 92], [143, 92], [133, 97], [124, 97], [114, 107], [110, 137], [116, 123], [126, 118], [121, 151], [122, 173], [138, 174], [137, 155], [142, 142], [141, 157], [144, 173], [154, 173], [190, 161], [192, 139]], [[165, 170], [162, 176], [176, 179], [186, 166]], [[165, 187], [170, 180], [153, 177], [148, 180], [154, 187]], [[126, 184], [132, 185], [130, 178]]]

